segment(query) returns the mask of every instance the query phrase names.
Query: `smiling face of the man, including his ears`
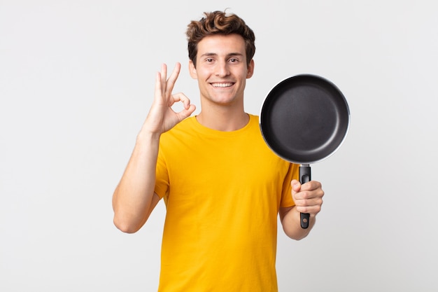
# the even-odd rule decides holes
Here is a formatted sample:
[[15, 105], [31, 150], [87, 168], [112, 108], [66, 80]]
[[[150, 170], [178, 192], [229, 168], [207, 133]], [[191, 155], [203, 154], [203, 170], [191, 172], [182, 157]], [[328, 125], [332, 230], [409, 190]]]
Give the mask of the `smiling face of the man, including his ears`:
[[243, 104], [246, 78], [254, 62], [246, 64], [245, 42], [237, 34], [206, 36], [197, 46], [197, 67], [190, 62], [190, 76], [198, 80], [201, 99], [214, 104]]

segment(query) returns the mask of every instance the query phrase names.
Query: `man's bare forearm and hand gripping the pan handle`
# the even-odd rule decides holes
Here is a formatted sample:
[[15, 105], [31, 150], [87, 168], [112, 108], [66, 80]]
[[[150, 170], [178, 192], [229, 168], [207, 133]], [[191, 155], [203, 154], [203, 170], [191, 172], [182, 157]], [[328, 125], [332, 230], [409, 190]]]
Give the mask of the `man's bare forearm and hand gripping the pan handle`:
[[[292, 239], [303, 239], [309, 235], [310, 230], [316, 222], [316, 214], [321, 210], [324, 191], [318, 181], [309, 181], [301, 185], [299, 181], [293, 180], [292, 197], [295, 202], [293, 207], [281, 207], [278, 211], [281, 225], [288, 237]], [[300, 213], [309, 213], [309, 227], [301, 228]]]

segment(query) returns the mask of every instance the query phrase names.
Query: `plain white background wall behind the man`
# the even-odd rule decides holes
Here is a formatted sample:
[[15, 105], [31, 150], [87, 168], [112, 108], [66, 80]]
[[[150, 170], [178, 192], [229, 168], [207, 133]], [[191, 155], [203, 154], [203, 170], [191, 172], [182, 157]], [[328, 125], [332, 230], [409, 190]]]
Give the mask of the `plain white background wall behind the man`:
[[164, 204], [127, 235], [111, 196], [162, 62], [199, 108], [185, 27], [225, 8], [256, 34], [246, 111], [302, 73], [351, 110], [316, 227], [278, 234], [280, 291], [437, 291], [435, 1], [208, 2], [0, 0], [0, 291], [156, 290]]

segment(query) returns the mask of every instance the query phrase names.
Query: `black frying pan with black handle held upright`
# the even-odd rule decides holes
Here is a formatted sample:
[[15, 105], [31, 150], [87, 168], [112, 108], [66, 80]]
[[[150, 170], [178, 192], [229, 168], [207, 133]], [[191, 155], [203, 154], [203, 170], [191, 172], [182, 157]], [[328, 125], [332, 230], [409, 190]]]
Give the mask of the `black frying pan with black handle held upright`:
[[[311, 181], [310, 165], [332, 155], [344, 141], [350, 110], [334, 83], [301, 74], [278, 83], [264, 99], [260, 130], [266, 144], [284, 160], [299, 164], [299, 181]], [[309, 227], [307, 213], [301, 227]]]

